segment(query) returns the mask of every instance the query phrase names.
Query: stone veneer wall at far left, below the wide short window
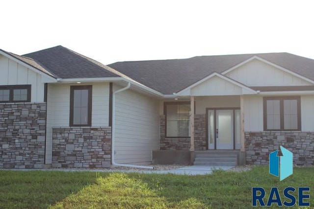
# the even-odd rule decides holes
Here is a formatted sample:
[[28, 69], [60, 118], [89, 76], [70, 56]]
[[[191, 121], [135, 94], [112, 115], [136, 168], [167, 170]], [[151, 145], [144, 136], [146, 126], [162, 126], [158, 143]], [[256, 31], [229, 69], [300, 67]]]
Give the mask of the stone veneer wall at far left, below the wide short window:
[[0, 168], [43, 168], [46, 103], [0, 104]]

